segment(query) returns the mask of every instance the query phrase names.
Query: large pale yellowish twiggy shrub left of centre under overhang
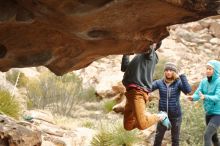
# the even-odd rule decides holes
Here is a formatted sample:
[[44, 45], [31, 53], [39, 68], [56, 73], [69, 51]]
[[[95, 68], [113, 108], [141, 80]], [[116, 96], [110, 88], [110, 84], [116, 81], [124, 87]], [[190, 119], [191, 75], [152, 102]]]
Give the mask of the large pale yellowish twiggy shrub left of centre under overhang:
[[35, 108], [71, 115], [74, 105], [95, 100], [95, 91], [93, 88], [83, 89], [82, 80], [74, 73], [56, 76], [44, 72], [39, 79], [30, 80], [27, 96]]

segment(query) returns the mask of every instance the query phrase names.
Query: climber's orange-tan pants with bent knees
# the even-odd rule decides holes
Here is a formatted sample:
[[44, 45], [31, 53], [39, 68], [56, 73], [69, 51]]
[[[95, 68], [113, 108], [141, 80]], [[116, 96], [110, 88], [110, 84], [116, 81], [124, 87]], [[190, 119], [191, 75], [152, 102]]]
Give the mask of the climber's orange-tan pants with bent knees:
[[146, 129], [159, 121], [156, 114], [145, 114], [148, 94], [141, 90], [131, 89], [125, 93], [126, 105], [124, 111], [124, 128], [132, 130]]

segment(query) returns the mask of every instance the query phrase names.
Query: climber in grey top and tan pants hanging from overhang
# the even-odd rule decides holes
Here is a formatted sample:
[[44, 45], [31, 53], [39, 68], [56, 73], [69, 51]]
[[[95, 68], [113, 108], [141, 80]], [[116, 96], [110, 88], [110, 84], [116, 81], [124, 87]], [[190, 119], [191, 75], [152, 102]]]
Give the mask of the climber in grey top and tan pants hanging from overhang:
[[131, 61], [129, 55], [123, 55], [121, 71], [125, 72], [122, 80], [126, 88], [126, 105], [124, 110], [124, 128], [133, 130], [146, 129], [161, 122], [167, 129], [171, 128], [167, 113], [145, 114], [148, 93], [152, 87], [153, 73], [158, 62], [156, 50], [161, 42], [153, 44], [142, 54], [137, 54]]

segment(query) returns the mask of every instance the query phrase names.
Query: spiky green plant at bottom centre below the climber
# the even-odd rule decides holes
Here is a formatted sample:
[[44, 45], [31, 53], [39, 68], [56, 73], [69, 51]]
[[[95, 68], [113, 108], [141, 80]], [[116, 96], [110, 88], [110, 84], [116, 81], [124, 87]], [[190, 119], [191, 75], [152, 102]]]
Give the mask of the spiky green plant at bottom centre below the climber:
[[138, 130], [126, 131], [122, 122], [101, 124], [100, 130], [92, 139], [92, 146], [132, 146], [143, 139]]

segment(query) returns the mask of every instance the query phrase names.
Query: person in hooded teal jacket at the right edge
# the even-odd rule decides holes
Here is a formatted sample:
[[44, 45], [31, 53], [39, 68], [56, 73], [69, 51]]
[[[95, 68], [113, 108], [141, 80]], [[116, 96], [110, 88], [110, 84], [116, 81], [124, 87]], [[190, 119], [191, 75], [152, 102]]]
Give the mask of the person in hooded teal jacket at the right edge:
[[217, 129], [220, 126], [220, 62], [211, 60], [207, 63], [204, 78], [192, 97], [192, 101], [203, 100], [205, 109], [206, 130], [204, 146], [220, 146]]

